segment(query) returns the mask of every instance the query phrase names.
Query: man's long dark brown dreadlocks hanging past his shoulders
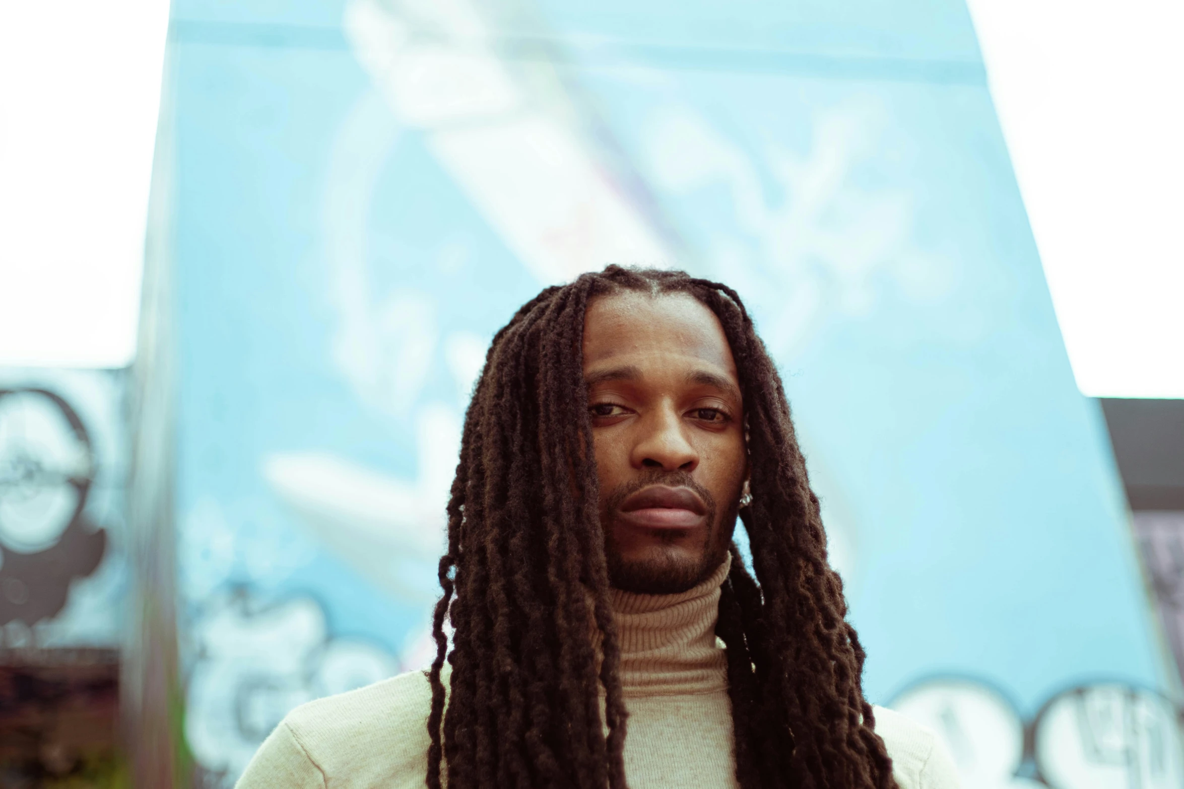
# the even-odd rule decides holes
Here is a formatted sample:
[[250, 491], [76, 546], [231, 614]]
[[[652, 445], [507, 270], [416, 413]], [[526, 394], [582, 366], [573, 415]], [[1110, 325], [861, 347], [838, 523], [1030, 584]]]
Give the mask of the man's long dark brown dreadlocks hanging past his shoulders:
[[590, 299], [620, 290], [702, 302], [740, 376], [752, 467], [740, 518], [757, 577], [733, 547], [716, 625], [740, 785], [894, 789], [818, 498], [780, 377], [740, 297], [684, 272], [619, 266], [547, 287], [489, 349], [439, 562], [427, 787], [440, 789], [446, 769], [450, 789], [625, 789], [626, 712], [580, 353]]

